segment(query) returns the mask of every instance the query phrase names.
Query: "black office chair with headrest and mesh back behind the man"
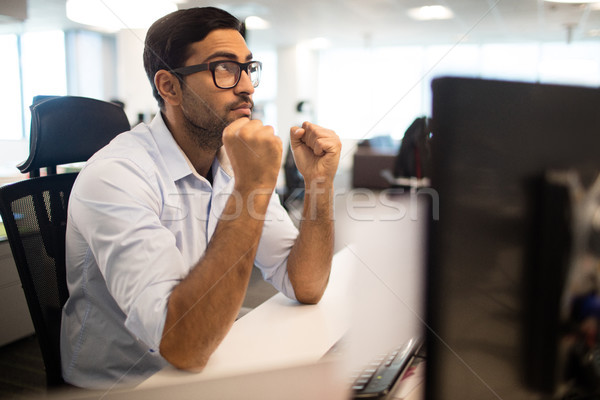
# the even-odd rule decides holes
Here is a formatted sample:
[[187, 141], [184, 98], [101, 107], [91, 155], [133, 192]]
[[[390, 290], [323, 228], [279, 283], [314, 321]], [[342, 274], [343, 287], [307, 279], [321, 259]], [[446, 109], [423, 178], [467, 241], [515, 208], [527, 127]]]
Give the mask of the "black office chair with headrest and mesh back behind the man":
[[[0, 188], [0, 215], [40, 345], [46, 383], [56, 386], [63, 383], [60, 322], [69, 297], [67, 205], [77, 176], [57, 174], [56, 167], [87, 161], [130, 125], [121, 107], [90, 98], [54, 97], [30, 108], [30, 154], [18, 166], [30, 178]], [[41, 168], [46, 176], [40, 176]]]

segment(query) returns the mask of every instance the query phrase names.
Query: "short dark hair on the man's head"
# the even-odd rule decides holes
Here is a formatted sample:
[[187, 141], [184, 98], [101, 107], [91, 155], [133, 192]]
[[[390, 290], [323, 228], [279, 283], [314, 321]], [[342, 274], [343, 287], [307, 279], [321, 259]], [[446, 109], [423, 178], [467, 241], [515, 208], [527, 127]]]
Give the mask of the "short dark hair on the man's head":
[[244, 25], [237, 18], [215, 7], [178, 10], [165, 15], [148, 29], [144, 69], [161, 109], [164, 101], [154, 85], [154, 75], [161, 69], [170, 71], [182, 67], [190, 56], [190, 45], [203, 40], [216, 29], [235, 29], [244, 35]]

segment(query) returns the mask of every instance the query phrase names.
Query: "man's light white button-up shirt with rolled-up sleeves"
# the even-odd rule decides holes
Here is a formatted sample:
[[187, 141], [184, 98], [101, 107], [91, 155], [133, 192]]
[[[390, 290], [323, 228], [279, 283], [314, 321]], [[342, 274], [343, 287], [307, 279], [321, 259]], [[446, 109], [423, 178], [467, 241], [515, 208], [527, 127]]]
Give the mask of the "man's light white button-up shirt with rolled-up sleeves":
[[[117, 136], [80, 172], [66, 237], [70, 297], [63, 308], [64, 379], [133, 385], [167, 365], [159, 344], [173, 288], [198, 262], [233, 190], [221, 149], [200, 176], [160, 113]], [[294, 299], [287, 257], [298, 231], [273, 194], [255, 265]]]

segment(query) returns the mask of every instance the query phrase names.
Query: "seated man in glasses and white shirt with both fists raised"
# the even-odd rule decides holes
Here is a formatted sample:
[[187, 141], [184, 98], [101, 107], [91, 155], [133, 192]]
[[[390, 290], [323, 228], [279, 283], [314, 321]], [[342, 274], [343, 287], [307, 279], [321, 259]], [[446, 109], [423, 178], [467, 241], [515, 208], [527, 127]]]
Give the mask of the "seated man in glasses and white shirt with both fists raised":
[[261, 65], [240, 32], [210, 7], [176, 11], [148, 31], [144, 66], [160, 113], [94, 155], [70, 198], [61, 335], [69, 383], [102, 388], [169, 363], [202, 368], [254, 264], [299, 302], [325, 290], [340, 141], [311, 123], [291, 128], [307, 185], [298, 231], [274, 194], [281, 140], [250, 119]]

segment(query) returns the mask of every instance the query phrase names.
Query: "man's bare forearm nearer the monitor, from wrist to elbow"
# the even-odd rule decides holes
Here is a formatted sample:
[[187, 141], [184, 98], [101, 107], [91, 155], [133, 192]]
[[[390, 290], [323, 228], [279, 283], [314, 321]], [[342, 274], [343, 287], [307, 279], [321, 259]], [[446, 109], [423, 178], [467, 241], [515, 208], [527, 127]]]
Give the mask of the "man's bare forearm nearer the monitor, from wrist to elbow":
[[319, 302], [331, 270], [334, 246], [333, 185], [307, 183], [300, 233], [288, 258], [288, 276], [296, 299]]

